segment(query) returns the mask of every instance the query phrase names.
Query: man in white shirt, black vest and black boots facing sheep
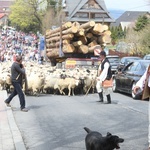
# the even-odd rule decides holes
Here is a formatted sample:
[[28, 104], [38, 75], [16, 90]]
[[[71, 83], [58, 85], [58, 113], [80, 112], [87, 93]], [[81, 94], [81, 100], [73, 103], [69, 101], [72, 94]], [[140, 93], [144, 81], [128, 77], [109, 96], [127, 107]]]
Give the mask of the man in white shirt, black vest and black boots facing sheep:
[[98, 68], [98, 77], [97, 77], [97, 83], [96, 83], [96, 89], [99, 95], [99, 101], [98, 102], [103, 102], [103, 93], [105, 93], [107, 97], [107, 104], [111, 103], [111, 88], [103, 88], [102, 87], [102, 82], [104, 80], [110, 80], [112, 78], [112, 73], [111, 73], [111, 66], [109, 63], [109, 60], [106, 58], [106, 53], [105, 51], [100, 52], [100, 60], [101, 64]]

